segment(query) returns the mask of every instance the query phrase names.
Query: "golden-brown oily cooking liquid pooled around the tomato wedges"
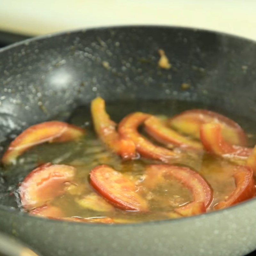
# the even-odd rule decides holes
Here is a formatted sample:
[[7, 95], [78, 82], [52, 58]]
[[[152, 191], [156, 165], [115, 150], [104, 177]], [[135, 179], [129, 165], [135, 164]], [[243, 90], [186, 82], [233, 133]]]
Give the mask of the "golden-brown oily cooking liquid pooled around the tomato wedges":
[[[141, 104], [143, 106], [143, 103]], [[128, 108], [123, 112], [120, 109], [125, 108], [124, 103], [119, 102], [117, 105], [112, 103], [111, 106], [112, 108], [109, 109], [112, 110], [109, 111], [109, 114], [115, 121], [119, 121], [132, 111], [144, 111], [157, 115], [167, 114], [167, 108], [164, 104], [158, 104], [158, 107], [160, 106], [158, 109], [154, 109], [154, 106], [150, 108], [149, 102], [145, 104], [145, 109], [141, 106], [136, 109], [138, 106], [135, 104], [133, 108]], [[176, 104], [175, 106], [176, 112], [180, 112], [177, 106], [181, 105]], [[183, 105], [182, 107], [184, 108]], [[119, 113], [116, 113], [116, 109], [120, 110]], [[168, 116], [171, 116], [171, 114], [168, 114]], [[236, 121], [239, 120], [236, 119]], [[31, 161], [37, 163], [52, 162], [52, 164], [69, 164], [76, 168], [74, 182], [71, 185], [68, 184], [70, 186], [67, 187], [65, 194], [54, 198], [51, 202], [52, 205], [61, 209], [64, 214], [63, 217], [110, 217], [114, 220], [129, 223], [164, 220], [172, 218], [170, 212], [172, 212], [174, 208], [193, 200], [191, 192], [175, 179], [168, 179], [163, 184], [157, 185], [154, 189], [143, 187], [145, 166], [147, 164], [161, 164], [161, 162], [145, 158], [122, 161], [119, 156], [109, 151], [95, 135], [88, 108], [79, 108], [76, 113], [70, 117], [69, 122], [79, 126], [85, 126], [86, 135], [83, 139], [77, 142], [38, 145], [28, 150], [19, 160], [20, 163], [24, 164]], [[255, 138], [252, 135], [250, 137], [252, 137], [250, 143], [253, 144]], [[154, 141], [154, 143], [156, 142]], [[173, 162], [173, 164], [176, 163], [177, 162]], [[88, 209], [79, 204], [79, 200], [84, 196], [96, 193], [89, 184], [89, 172], [92, 168], [100, 164], [107, 164], [133, 180], [136, 184], [137, 192], [147, 200], [150, 212], [124, 211], [112, 207], [110, 207], [110, 211], [101, 212], [97, 209]], [[177, 164], [188, 166], [199, 172], [212, 187], [214, 199], [208, 211], [213, 211], [213, 206], [219, 201], [225, 200], [235, 189], [235, 181], [232, 177], [233, 164], [227, 160], [211, 156], [205, 152], [197, 154], [191, 151], [188, 157], [179, 160]], [[28, 170], [28, 172], [29, 171], [31, 170]]]

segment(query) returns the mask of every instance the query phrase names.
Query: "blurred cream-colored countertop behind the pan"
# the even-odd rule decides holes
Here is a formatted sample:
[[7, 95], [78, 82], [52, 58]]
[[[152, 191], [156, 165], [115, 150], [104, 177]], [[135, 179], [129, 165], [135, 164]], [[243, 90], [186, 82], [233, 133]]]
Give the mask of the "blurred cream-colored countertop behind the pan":
[[206, 28], [256, 40], [256, 0], [0, 0], [0, 29], [28, 35], [109, 25]]

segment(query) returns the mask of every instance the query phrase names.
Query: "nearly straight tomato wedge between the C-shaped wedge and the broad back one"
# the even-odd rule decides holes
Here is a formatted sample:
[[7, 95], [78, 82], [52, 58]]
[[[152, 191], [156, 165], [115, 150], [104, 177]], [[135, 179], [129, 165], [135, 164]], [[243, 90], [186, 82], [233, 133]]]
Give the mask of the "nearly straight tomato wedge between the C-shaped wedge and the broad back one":
[[156, 116], [151, 116], [144, 122], [146, 132], [163, 144], [173, 144], [181, 148], [188, 149], [203, 149], [200, 142], [195, 140], [190, 140], [180, 133], [175, 132], [171, 128], [167, 127], [164, 122], [158, 119]]

